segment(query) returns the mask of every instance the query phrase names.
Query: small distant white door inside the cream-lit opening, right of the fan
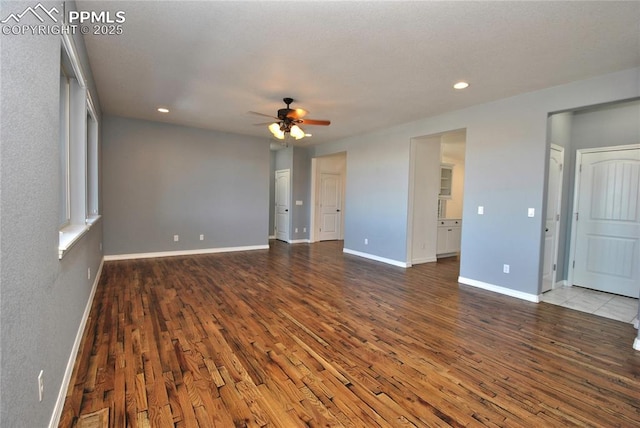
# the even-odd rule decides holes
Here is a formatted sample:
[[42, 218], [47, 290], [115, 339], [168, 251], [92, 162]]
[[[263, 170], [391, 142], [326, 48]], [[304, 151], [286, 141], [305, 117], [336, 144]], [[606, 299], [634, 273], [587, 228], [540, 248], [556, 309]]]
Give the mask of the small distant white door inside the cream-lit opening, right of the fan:
[[342, 176], [335, 173], [320, 174], [320, 241], [341, 238], [342, 224]]

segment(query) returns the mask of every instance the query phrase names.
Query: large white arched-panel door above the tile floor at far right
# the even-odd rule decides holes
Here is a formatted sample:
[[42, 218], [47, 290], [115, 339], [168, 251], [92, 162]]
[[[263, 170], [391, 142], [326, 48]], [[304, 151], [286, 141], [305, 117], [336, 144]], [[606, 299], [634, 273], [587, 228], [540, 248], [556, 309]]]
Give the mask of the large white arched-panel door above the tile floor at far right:
[[640, 294], [640, 146], [578, 152], [573, 283]]

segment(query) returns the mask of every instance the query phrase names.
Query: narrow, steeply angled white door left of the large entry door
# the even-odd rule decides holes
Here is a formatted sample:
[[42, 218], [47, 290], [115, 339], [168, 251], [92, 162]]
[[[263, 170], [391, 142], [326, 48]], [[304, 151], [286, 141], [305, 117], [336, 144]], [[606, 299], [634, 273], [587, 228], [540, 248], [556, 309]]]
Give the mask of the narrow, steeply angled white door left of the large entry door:
[[542, 292], [549, 291], [556, 283], [558, 266], [558, 236], [560, 208], [562, 206], [562, 164], [564, 148], [551, 146], [549, 153], [549, 177], [547, 183], [547, 216], [544, 232], [544, 260], [542, 263]]

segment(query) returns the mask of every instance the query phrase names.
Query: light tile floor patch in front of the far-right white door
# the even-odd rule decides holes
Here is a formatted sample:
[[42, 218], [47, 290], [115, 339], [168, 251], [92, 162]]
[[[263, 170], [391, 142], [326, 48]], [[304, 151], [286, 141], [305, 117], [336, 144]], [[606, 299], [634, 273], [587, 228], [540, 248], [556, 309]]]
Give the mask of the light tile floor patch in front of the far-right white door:
[[638, 319], [638, 299], [588, 288], [555, 288], [544, 293], [542, 301], [628, 323], [637, 323]]

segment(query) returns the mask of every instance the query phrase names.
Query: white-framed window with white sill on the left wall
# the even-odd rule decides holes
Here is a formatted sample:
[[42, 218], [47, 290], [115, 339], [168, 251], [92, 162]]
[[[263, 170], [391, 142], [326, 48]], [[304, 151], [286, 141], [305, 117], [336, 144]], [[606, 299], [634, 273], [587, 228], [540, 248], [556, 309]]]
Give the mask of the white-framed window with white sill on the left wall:
[[99, 218], [98, 121], [71, 36], [60, 60], [60, 239], [58, 256]]

